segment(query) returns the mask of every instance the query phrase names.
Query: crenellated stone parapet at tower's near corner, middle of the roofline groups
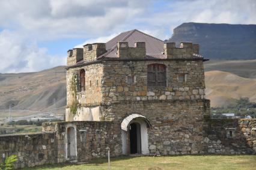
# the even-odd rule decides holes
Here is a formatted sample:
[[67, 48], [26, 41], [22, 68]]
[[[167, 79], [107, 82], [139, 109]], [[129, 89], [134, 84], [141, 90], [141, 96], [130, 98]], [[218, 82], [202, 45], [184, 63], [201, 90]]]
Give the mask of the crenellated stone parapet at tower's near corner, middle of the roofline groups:
[[135, 47], [129, 47], [128, 42], [117, 42], [117, 56], [120, 59], [144, 59], [145, 42], [135, 42]]

